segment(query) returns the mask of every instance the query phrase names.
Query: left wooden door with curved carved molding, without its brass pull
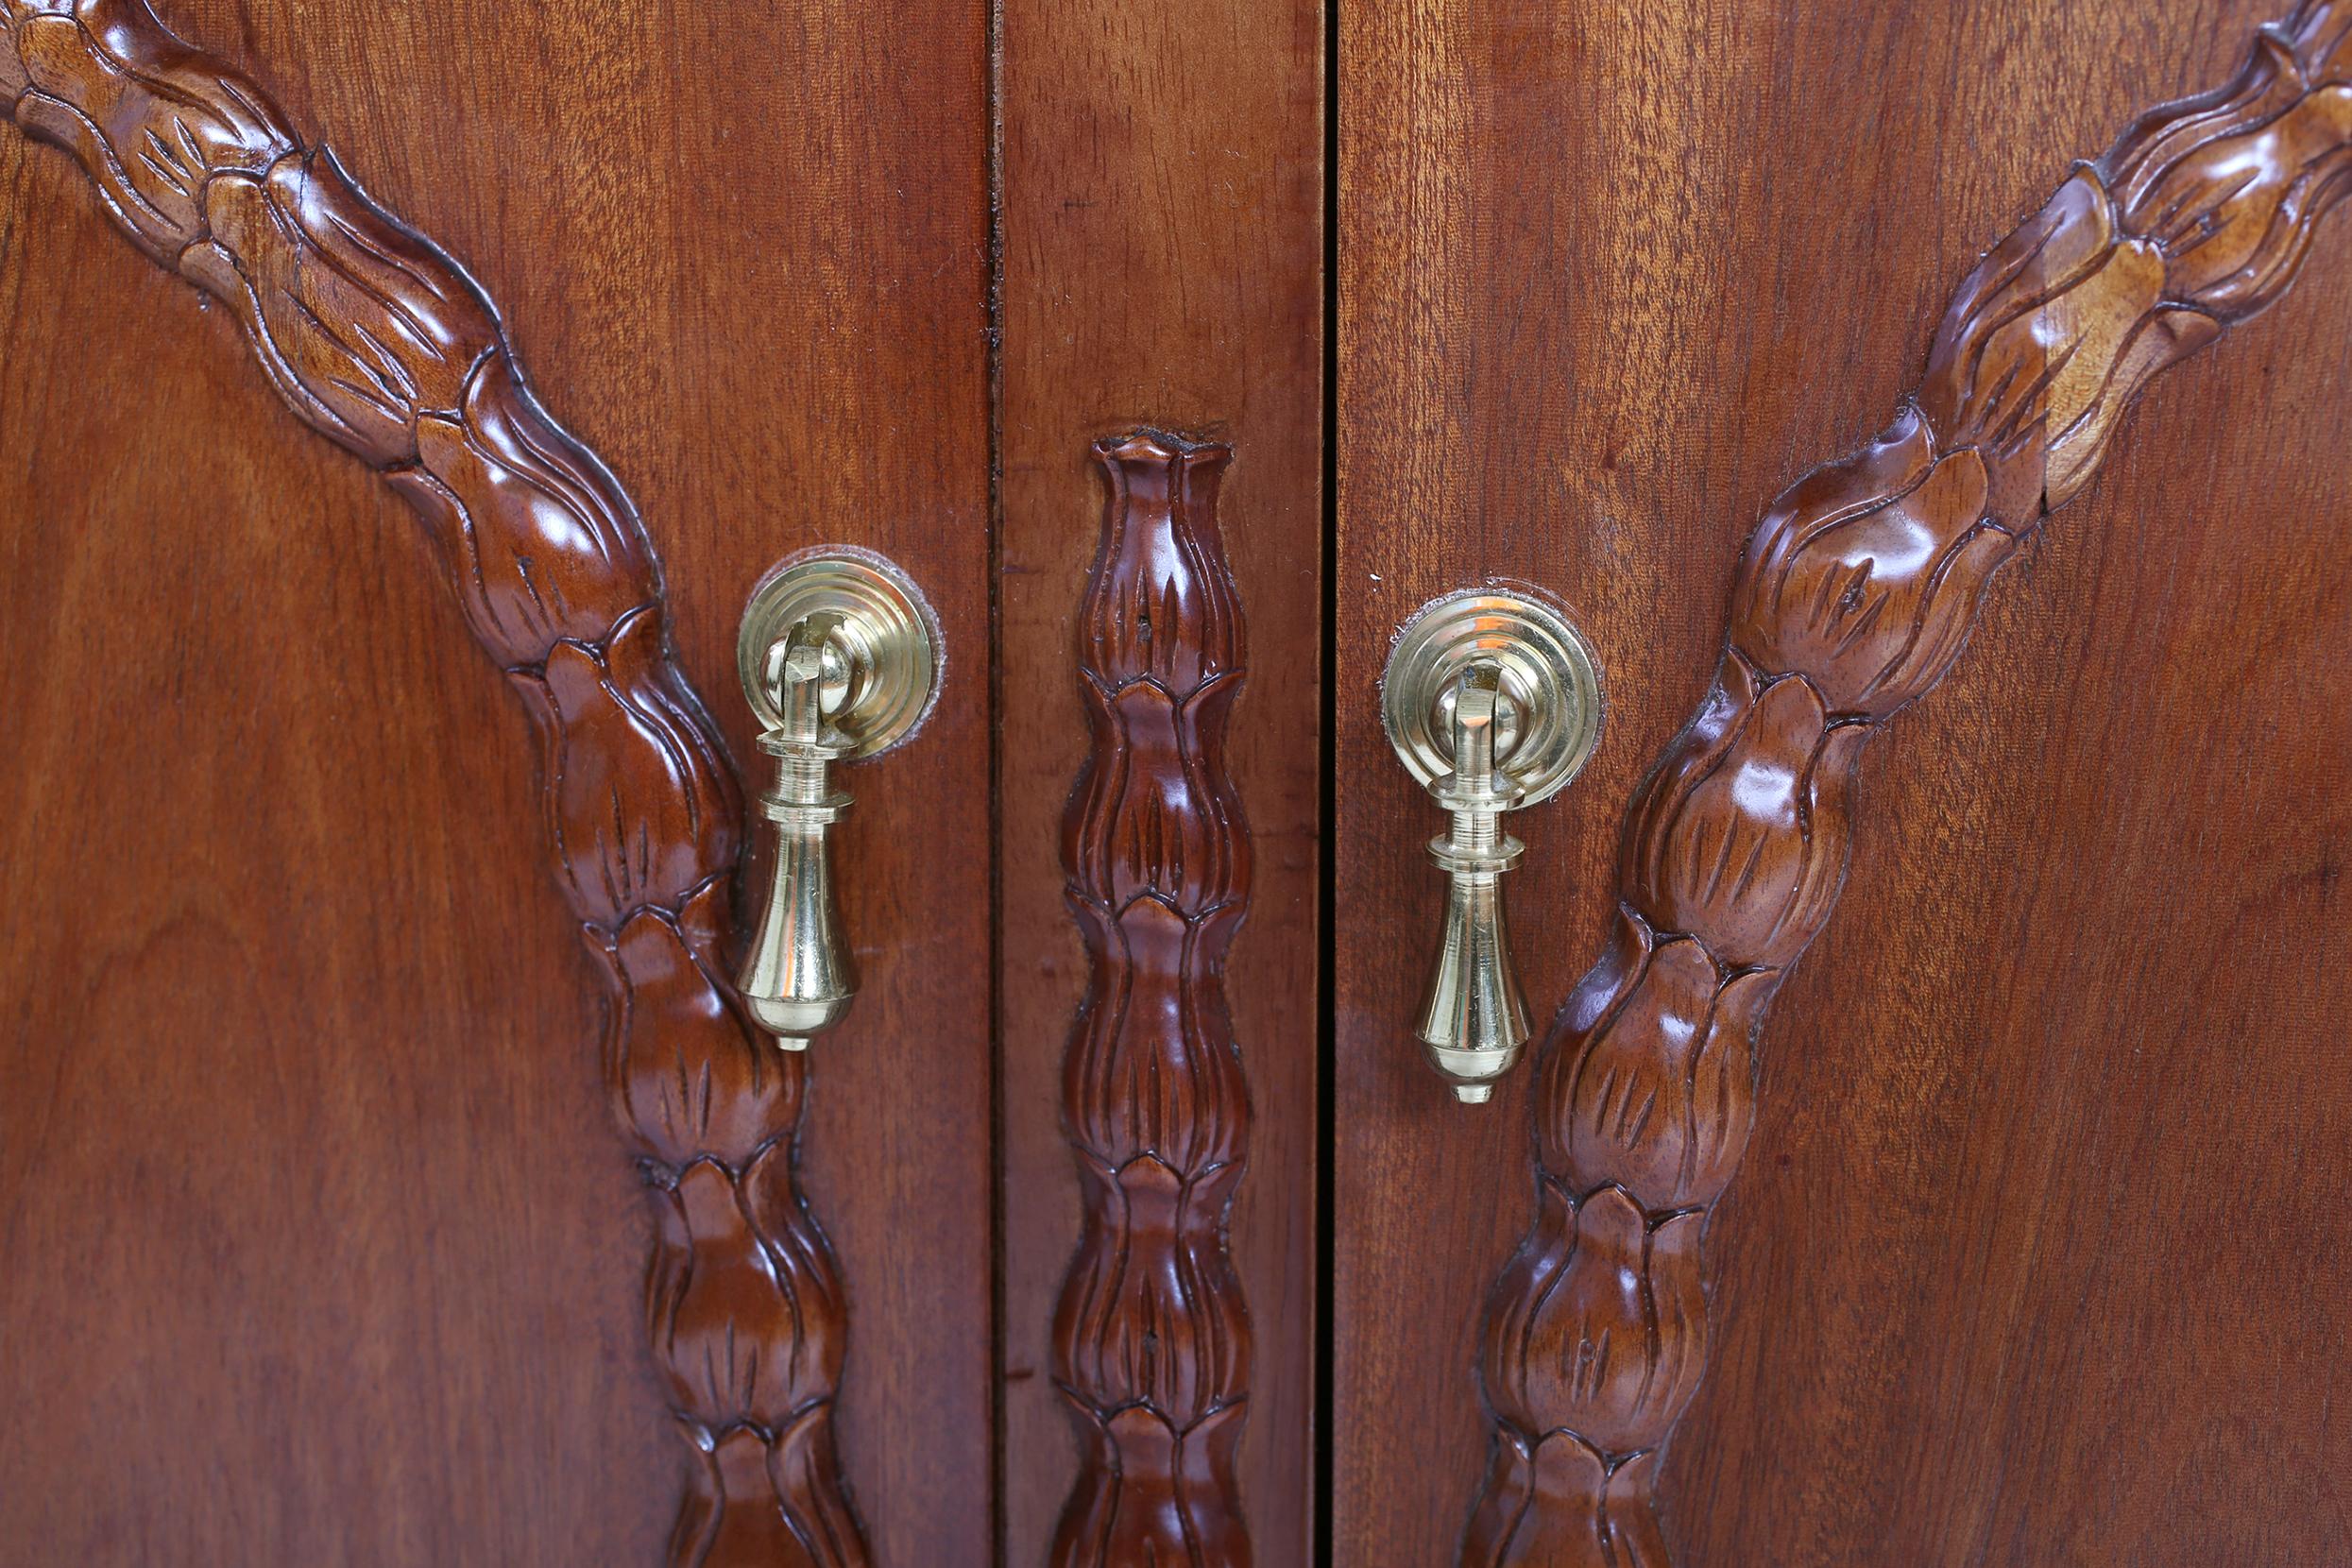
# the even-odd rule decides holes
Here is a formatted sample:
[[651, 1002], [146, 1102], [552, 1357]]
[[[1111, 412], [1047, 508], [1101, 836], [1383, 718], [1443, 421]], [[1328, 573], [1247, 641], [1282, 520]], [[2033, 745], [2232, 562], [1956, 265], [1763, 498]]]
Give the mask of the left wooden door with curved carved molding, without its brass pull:
[[[990, 1561], [983, 9], [165, 9], [0, 7], [0, 1559]], [[948, 691], [786, 1058], [830, 541]]]

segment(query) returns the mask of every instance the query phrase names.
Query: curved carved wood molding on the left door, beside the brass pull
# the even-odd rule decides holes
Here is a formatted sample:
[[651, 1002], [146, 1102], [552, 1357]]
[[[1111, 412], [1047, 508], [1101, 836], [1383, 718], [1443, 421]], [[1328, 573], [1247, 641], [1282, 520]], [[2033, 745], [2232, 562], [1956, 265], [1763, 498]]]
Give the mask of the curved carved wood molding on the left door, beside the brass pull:
[[863, 1563], [833, 1450], [847, 1312], [793, 1180], [802, 1063], [724, 980], [741, 797], [635, 508], [539, 407], [482, 289], [143, 0], [0, 0], [0, 94], [139, 249], [235, 310], [294, 414], [409, 501], [532, 715], [654, 1204], [647, 1333], [694, 1450], [670, 1559]]

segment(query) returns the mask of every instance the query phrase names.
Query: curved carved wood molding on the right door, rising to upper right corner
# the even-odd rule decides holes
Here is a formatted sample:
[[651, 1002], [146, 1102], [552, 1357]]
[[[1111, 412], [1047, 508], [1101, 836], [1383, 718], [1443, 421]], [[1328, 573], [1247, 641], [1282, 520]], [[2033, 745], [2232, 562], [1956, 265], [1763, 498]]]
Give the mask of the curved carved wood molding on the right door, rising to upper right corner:
[[2352, 5], [2305, 0], [1992, 249], [1896, 423], [1766, 512], [1715, 686], [1628, 806], [1616, 933], [1545, 1044], [1465, 1563], [1668, 1563], [1651, 1486], [1705, 1368], [1700, 1237], [1755, 1126], [1764, 1009], [1844, 884], [1863, 745], [2147, 381], [2277, 301], [2347, 186]]

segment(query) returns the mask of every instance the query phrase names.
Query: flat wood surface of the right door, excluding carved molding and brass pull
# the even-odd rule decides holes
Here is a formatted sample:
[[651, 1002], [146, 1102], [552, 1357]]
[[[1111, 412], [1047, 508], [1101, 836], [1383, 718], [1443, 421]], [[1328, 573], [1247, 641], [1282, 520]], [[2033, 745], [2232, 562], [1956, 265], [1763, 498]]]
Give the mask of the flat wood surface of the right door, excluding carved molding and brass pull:
[[[2270, 19], [1733, 9], [1729, 28], [1724, 7], [1679, 5], [1341, 24], [1338, 571], [1395, 592], [1343, 614], [1341, 689], [1369, 686], [1414, 604], [1482, 574], [1578, 607], [1613, 733], [1550, 820], [1517, 825], [1519, 959], [1543, 1009], [1606, 929], [1616, 818], [1715, 663], [1743, 520], [1806, 440], [1851, 449], [1903, 393], [1973, 266], [1971, 221], [2011, 228], [2063, 176], [2051, 146], [2103, 146], [2143, 103], [2227, 78]], [[2328, 7], [2303, 19], [2343, 28]], [[1559, 158], [1517, 155], [1531, 146]], [[1465, 1368], [1479, 1260], [1524, 1213], [1526, 1088], [1465, 1117], [1418, 1065], [1416, 969], [1388, 954], [1430, 940], [1425, 804], [1371, 703], [1343, 703], [1341, 780], [1369, 788], [1341, 790], [1336, 907], [1371, 917], [1336, 926], [1338, 1561], [1623, 1566], [1665, 1542], [1686, 1563], [2345, 1554], [2340, 1246], [2326, 1218], [2298, 1239], [2244, 1220], [2256, 1194], [2352, 1159], [2352, 1093], [2324, 1070], [2352, 752], [2317, 722], [2352, 656], [2326, 545], [2347, 503], [2328, 433], [2352, 287], [2326, 266], [2340, 230], [2319, 247], [2338, 254], [2249, 329], [2256, 348], [2232, 339], [2150, 395], [2114, 477], [2023, 548], [1945, 693], [1865, 776], [1853, 891], [1759, 1037], [1745, 1185], [1712, 1220], [1722, 1373], [1668, 1450], [1665, 1540], [1639, 1514], [1595, 1535], [1566, 1472], [1501, 1514], [1491, 1497], [1468, 1540], [1446, 1497], [1477, 1490], [1489, 1448]], [[1952, 414], [1929, 400], [1926, 418]], [[2030, 477], [2023, 503], [1992, 487], [1985, 510], [2037, 505], [2039, 456]], [[2051, 498], [2079, 480], [2053, 442]], [[1820, 644], [1830, 686], [1851, 646]], [[1825, 705], [1867, 715], [1872, 696]], [[1661, 832], [1628, 839], [1628, 867]], [[1665, 870], [1639, 886], [1656, 882], [1668, 926], [1708, 929], [1682, 924], [1705, 914], [1705, 877]], [[1705, 919], [1762, 943], [1733, 973], [1783, 961], [1736, 900]], [[1665, 1241], [1698, 1222], [1672, 1215], [1703, 1204], [1665, 1194], [1635, 1218], [1635, 1276], [1672, 1267]], [[1585, 1340], [1602, 1356], [1576, 1361], [1578, 1335], [1541, 1321], [1576, 1298], [1606, 1316], [1571, 1274], [1505, 1286], [1505, 1309], [1541, 1302], [1505, 1338], [1536, 1356], [1517, 1375], [1588, 1401], [1623, 1458], [1663, 1427], [1609, 1387], [1623, 1345], [1609, 1361]], [[1672, 1342], [1651, 1319], [1632, 1354]], [[1646, 1387], [1670, 1408], [1689, 1382]], [[1515, 1422], [1571, 1427], [1550, 1399], [1501, 1387]]]

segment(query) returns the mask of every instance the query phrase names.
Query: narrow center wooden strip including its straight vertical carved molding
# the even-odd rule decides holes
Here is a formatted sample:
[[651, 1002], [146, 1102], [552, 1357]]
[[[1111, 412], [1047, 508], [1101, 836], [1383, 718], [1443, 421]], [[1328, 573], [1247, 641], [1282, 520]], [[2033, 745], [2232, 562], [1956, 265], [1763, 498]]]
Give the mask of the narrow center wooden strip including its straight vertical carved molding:
[[1004, 1561], [1315, 1561], [1324, 16], [1007, 0]]

